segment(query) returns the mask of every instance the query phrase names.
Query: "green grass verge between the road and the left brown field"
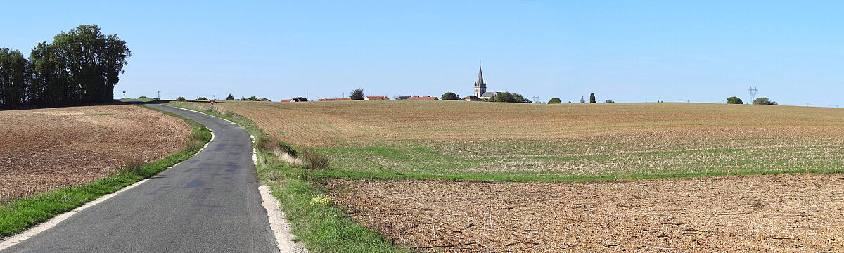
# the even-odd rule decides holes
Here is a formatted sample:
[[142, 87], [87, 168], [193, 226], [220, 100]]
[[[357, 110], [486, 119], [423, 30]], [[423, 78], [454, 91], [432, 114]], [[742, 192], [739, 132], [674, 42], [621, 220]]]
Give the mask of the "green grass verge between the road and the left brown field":
[[130, 186], [140, 180], [159, 174], [170, 166], [191, 158], [205, 143], [211, 140], [211, 132], [197, 121], [163, 110], [158, 111], [180, 118], [192, 127], [193, 132], [181, 151], [165, 159], [143, 164], [138, 170], [123, 171], [117, 175], [95, 180], [82, 186], [47, 191], [3, 203], [3, 205], [0, 205], [0, 240], [23, 232], [25, 229], [45, 222], [58, 214], [71, 211], [73, 208], [82, 206], [84, 203], [93, 201], [100, 196], [105, 196], [125, 186]]

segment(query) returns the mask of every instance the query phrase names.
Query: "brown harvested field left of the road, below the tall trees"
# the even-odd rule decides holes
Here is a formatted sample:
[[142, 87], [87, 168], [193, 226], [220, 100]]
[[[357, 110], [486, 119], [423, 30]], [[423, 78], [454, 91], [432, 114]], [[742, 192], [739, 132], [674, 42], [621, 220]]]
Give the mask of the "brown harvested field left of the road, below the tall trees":
[[0, 110], [0, 202], [165, 158], [190, 134], [184, 121], [133, 105]]

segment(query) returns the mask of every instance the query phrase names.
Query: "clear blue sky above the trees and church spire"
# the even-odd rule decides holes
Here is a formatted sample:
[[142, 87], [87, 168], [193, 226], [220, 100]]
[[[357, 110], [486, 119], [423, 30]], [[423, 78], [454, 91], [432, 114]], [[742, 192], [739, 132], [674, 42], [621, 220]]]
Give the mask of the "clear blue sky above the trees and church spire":
[[[129, 1], [126, 1], [129, 2]], [[175, 3], [178, 2], [178, 3]], [[489, 91], [547, 101], [844, 106], [841, 1], [3, 1], [0, 47], [97, 24], [164, 99]]]

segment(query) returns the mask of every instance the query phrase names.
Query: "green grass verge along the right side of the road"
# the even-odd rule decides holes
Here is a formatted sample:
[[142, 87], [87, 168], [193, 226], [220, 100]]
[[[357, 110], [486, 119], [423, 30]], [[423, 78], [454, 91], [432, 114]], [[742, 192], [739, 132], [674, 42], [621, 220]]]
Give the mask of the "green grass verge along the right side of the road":
[[322, 180], [311, 176], [311, 170], [289, 166], [265, 148], [266, 143], [275, 142], [254, 121], [230, 111], [195, 108], [181, 102], [169, 105], [233, 121], [245, 127], [256, 143], [262, 143], [256, 145], [258, 177], [279, 199], [292, 226], [291, 233], [311, 252], [407, 252], [395, 248], [375, 230], [355, 223], [332, 202], [315, 202], [315, 198], [322, 198], [327, 193]]

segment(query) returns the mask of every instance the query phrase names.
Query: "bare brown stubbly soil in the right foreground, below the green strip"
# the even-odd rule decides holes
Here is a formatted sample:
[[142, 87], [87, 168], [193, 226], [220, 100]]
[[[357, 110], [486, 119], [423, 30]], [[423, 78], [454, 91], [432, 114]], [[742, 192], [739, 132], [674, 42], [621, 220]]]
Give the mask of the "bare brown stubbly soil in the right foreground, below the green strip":
[[356, 222], [425, 251], [844, 251], [839, 174], [327, 186]]

